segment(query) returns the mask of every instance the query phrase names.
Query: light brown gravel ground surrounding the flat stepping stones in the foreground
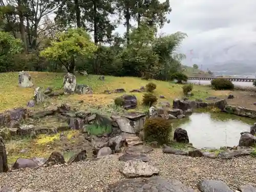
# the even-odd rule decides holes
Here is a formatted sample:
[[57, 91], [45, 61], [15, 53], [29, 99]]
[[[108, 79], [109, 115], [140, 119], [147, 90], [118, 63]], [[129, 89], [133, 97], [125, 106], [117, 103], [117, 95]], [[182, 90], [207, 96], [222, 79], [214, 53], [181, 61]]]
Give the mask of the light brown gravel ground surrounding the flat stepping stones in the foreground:
[[[118, 172], [118, 157], [111, 155], [97, 161], [77, 162], [68, 166], [52, 166], [25, 169], [0, 174], [0, 187], [12, 186], [17, 190], [57, 190], [59, 192], [102, 191], [106, 184], [124, 179]], [[197, 189], [201, 179], [222, 180], [232, 189], [243, 184], [256, 186], [256, 161], [252, 157], [232, 160], [192, 158], [163, 154], [155, 150], [148, 154], [149, 162], [160, 169], [160, 176], [178, 179], [187, 186]]]

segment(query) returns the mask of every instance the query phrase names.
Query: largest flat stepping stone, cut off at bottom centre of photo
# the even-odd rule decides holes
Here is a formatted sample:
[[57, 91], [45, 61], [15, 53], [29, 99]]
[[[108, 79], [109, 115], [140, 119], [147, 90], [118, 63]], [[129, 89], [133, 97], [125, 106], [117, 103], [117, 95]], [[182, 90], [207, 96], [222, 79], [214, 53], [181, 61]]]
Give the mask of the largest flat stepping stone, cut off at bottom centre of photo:
[[125, 179], [110, 184], [104, 192], [194, 192], [176, 179], [167, 180], [155, 176], [150, 178]]

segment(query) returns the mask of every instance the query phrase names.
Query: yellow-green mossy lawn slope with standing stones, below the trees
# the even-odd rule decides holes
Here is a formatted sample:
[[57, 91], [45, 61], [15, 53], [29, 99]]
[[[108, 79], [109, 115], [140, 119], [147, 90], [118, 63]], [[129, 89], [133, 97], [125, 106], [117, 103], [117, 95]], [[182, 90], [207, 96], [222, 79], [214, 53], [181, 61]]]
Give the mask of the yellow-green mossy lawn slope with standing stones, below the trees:
[[[64, 73], [48, 73], [48, 72], [29, 72], [32, 77], [34, 87], [52, 87], [54, 91], [61, 90], [63, 87]], [[83, 100], [84, 103], [99, 106], [113, 103], [113, 99], [121, 94], [100, 94], [104, 90], [114, 90], [117, 88], [123, 88], [126, 92], [130, 92], [133, 89], [138, 89], [141, 86], [145, 86], [148, 82], [154, 82], [157, 85], [157, 89], [154, 93], [159, 97], [163, 95], [165, 99], [159, 99], [158, 101], [170, 101], [183, 96], [182, 85], [170, 83], [166, 81], [157, 80], [142, 80], [136, 77], [113, 77], [105, 76], [105, 80], [101, 81], [97, 75], [81, 76], [76, 75], [76, 82], [78, 84], [88, 84], [92, 89], [93, 95], [70, 95], [62, 96], [58, 98], [58, 102], [74, 102]], [[9, 72], [0, 74], [0, 111], [3, 112], [7, 109], [15, 108], [18, 106], [26, 106], [27, 102], [32, 99], [34, 94], [33, 88], [19, 88], [18, 87], [18, 72]], [[210, 90], [205, 86], [194, 86], [194, 98], [206, 98], [212, 96], [216, 91]], [[136, 95], [139, 101], [139, 108], [142, 108], [141, 100], [143, 93], [133, 93]], [[193, 98], [193, 99], [194, 99]], [[52, 99], [50, 102], [55, 102]]]

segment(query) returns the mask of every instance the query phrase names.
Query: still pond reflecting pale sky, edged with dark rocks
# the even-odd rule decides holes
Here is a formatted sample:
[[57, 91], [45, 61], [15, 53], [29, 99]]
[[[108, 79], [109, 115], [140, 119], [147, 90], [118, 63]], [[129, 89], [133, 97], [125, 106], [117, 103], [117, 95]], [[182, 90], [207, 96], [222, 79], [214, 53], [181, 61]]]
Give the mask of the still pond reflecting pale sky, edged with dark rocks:
[[196, 148], [238, 145], [240, 133], [250, 131], [255, 120], [225, 113], [193, 113], [173, 126], [187, 131]]

